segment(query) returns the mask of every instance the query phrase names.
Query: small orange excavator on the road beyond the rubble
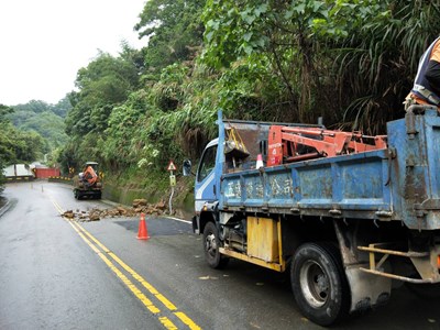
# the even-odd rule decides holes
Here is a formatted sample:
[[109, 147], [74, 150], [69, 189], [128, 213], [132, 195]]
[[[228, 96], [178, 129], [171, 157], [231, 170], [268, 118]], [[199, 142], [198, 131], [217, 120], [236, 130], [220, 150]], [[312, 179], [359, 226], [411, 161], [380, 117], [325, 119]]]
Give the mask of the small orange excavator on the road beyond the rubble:
[[102, 183], [98, 174], [98, 163], [87, 162], [84, 165], [84, 170], [74, 178], [74, 196], [76, 199], [84, 197], [101, 198]]

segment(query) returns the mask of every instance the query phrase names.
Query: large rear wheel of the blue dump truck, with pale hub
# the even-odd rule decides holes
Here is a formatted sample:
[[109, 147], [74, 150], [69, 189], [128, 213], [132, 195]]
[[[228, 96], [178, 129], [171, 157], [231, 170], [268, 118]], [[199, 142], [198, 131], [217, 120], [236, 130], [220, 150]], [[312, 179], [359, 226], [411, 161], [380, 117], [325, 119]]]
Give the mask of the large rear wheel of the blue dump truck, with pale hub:
[[315, 323], [330, 326], [348, 314], [350, 289], [333, 244], [300, 245], [290, 266], [290, 283], [298, 308]]

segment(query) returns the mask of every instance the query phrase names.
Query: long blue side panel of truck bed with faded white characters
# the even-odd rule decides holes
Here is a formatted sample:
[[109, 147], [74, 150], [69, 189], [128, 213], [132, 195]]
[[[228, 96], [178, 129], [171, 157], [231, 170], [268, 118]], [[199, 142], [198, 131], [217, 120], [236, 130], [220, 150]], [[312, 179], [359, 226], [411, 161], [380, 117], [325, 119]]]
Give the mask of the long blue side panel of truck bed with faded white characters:
[[[261, 208], [323, 217], [367, 217], [392, 212], [386, 151], [319, 158], [222, 176], [222, 202], [229, 209]], [[294, 211], [290, 211], [294, 210]], [[380, 212], [376, 215], [376, 212]]]

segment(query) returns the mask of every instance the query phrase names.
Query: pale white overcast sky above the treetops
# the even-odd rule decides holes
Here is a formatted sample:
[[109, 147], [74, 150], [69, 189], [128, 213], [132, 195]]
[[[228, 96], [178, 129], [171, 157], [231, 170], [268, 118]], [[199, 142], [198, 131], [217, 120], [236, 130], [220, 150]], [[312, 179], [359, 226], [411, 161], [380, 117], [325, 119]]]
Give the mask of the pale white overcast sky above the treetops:
[[122, 41], [145, 46], [133, 30], [145, 1], [0, 1], [0, 105], [55, 105], [99, 50], [118, 56]]

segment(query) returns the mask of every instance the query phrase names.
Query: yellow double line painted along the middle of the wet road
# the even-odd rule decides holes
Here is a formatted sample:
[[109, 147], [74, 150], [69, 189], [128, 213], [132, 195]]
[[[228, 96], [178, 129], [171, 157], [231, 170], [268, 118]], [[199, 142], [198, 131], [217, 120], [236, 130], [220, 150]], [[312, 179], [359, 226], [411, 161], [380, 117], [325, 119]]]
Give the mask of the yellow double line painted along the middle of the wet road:
[[[52, 199], [55, 208], [58, 210], [61, 215], [64, 213], [63, 208]], [[70, 221], [69, 219], [63, 217], [68, 223], [74, 228], [74, 230], [78, 233], [78, 235], [90, 246], [91, 250], [98, 254], [98, 256], [106, 263], [106, 265], [122, 280], [122, 283], [132, 292], [132, 294], [145, 306], [147, 310], [150, 310], [153, 315], [157, 316], [157, 319], [166, 329], [179, 329], [173, 321], [163, 316], [164, 312], [161, 312], [161, 309], [156, 307], [153, 301], [151, 301], [141, 289], [133, 284], [132, 280], [128, 276], [125, 276], [108, 257], [110, 256], [122, 270], [124, 270], [128, 274], [131, 275], [135, 280], [138, 280], [150, 294], [152, 294], [162, 305], [166, 308], [166, 311], [172, 312], [184, 324], [186, 324], [191, 330], [200, 329], [189, 317], [186, 316], [185, 312], [179, 311], [177, 307], [169, 301], [165, 296], [158, 293], [148, 282], [146, 282], [141, 275], [139, 275], [133, 268], [131, 268], [128, 264], [125, 264], [120, 257], [118, 257], [113, 252], [107, 249], [101, 242], [99, 242], [91, 233], [89, 233], [82, 226], [75, 221]], [[167, 314], [167, 312], [165, 312]]]

